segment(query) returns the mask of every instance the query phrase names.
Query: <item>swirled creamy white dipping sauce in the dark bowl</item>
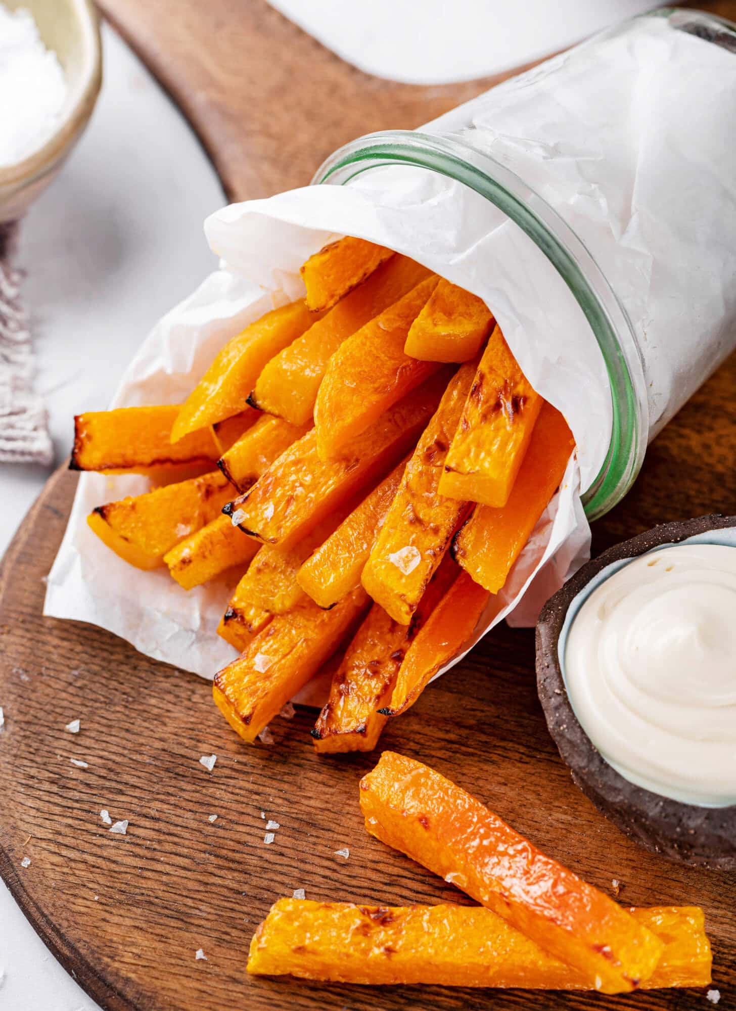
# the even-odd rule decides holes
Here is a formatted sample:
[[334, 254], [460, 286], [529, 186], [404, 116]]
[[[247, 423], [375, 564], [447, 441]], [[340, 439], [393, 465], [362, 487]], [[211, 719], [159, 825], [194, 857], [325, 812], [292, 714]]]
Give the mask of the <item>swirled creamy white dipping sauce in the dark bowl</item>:
[[626, 564], [573, 618], [563, 668], [575, 716], [623, 776], [736, 804], [736, 548], [672, 545]]

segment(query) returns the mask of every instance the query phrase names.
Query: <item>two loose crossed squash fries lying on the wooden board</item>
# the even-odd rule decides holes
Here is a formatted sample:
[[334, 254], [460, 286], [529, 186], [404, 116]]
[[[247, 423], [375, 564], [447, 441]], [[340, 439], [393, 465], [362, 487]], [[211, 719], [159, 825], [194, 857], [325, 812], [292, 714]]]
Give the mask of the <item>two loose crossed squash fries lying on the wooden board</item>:
[[384, 751], [360, 806], [371, 835], [480, 905], [279, 899], [253, 937], [249, 973], [607, 994], [711, 982], [700, 907], [619, 906], [422, 762]]

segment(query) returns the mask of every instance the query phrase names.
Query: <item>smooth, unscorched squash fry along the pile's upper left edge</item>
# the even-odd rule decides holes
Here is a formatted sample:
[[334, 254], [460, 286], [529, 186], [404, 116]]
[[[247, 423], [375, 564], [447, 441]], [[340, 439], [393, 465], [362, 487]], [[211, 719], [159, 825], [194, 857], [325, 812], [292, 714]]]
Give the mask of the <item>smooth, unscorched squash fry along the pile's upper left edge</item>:
[[313, 321], [303, 302], [292, 302], [267, 312], [228, 341], [187, 397], [174, 423], [172, 441], [247, 410], [248, 394], [266, 362]]

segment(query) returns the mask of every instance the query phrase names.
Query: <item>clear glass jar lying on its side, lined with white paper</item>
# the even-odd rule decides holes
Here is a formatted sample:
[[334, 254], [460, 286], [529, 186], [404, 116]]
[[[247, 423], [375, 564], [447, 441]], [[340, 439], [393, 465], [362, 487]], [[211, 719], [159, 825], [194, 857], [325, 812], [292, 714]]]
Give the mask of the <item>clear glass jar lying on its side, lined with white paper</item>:
[[[582, 489], [594, 519], [626, 494], [648, 442], [736, 347], [734, 136], [736, 25], [665, 8], [421, 130], [360, 137], [313, 182], [389, 169], [392, 186], [396, 167], [436, 173], [484, 197], [543, 254], [534, 270], [562, 279], [563, 317], [584, 320], [608, 378], [608, 452]], [[502, 249], [489, 271], [508, 266]]]

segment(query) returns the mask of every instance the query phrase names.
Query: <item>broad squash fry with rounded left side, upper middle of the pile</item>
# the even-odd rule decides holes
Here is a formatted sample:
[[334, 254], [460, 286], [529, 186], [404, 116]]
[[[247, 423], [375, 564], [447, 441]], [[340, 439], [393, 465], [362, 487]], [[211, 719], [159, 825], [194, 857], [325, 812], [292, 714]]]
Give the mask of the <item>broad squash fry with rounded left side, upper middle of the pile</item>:
[[411, 321], [437, 285], [428, 277], [343, 341], [328, 363], [314, 403], [320, 460], [340, 456], [392, 404], [440, 366], [403, 353]]

